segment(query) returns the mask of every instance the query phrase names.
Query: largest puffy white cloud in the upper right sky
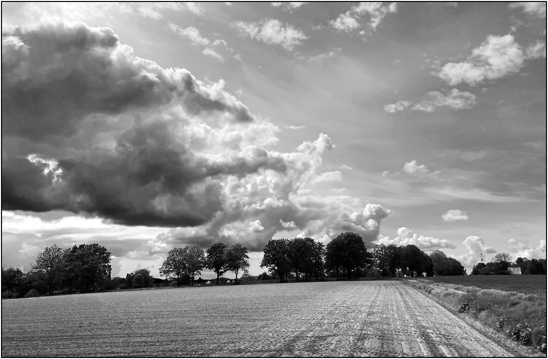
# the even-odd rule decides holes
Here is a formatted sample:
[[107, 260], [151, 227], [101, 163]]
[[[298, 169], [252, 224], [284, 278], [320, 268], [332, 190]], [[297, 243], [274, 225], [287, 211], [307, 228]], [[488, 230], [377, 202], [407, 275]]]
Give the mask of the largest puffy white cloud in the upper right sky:
[[446, 63], [437, 75], [452, 86], [463, 82], [475, 86], [519, 72], [524, 59], [512, 35], [489, 35], [466, 61]]

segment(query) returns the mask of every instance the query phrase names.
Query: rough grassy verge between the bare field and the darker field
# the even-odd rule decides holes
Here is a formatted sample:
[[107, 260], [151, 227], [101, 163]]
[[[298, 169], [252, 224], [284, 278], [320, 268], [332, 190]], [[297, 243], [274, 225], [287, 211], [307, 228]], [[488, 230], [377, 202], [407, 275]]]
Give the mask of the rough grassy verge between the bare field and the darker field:
[[450, 308], [503, 333], [520, 344], [546, 353], [546, 297], [481, 289], [425, 279], [404, 280]]

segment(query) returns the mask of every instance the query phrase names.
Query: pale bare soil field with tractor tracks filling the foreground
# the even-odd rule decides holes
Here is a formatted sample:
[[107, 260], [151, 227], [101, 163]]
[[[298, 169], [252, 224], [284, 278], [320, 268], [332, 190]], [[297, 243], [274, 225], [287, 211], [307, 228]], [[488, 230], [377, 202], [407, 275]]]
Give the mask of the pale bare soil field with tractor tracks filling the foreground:
[[399, 281], [2, 300], [2, 356], [520, 355]]

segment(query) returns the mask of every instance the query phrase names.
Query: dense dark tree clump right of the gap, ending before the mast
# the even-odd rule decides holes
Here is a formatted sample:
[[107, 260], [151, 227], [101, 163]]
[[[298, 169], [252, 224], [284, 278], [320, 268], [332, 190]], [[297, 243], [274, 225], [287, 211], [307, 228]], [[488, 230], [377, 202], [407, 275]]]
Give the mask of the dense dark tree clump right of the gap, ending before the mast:
[[[272, 239], [262, 248], [261, 268], [270, 277], [287, 282], [288, 278], [310, 280], [312, 276], [346, 279], [363, 276], [465, 275], [461, 263], [442, 251], [426, 254], [415, 245], [375, 245], [372, 252], [359, 234], [341, 233], [323, 246], [311, 238]], [[261, 277], [265, 277], [266, 273]]]

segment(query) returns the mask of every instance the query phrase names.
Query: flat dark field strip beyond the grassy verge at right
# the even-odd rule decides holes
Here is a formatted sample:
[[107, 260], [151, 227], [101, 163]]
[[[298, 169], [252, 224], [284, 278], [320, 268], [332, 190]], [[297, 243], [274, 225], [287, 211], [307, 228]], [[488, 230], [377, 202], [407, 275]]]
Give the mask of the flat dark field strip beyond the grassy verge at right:
[[465, 287], [546, 296], [546, 275], [459, 275], [427, 277], [425, 279]]

